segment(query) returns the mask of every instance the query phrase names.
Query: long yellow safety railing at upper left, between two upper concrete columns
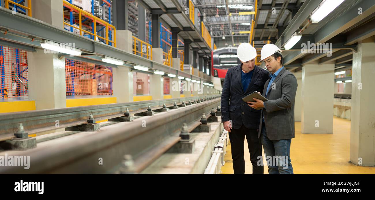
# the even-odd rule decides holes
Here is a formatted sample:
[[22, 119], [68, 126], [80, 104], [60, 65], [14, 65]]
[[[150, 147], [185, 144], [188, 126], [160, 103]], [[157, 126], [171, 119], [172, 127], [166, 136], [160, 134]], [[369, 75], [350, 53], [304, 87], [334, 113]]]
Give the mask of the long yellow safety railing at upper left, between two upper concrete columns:
[[[69, 9], [71, 9], [71, 11], [74, 11], [74, 12], [78, 13], [78, 19], [79, 19], [79, 27], [75, 27], [75, 26], [73, 26], [71, 24], [68, 24], [68, 23], [64, 22], [65, 25], [73, 27], [74, 29], [80, 30], [80, 35], [82, 35], [82, 32], [85, 32], [85, 33], [88, 33], [90, 35], [93, 35], [95, 37], [95, 39], [96, 39], [96, 37], [104, 39], [105, 42], [106, 42], [106, 44], [109, 44], [109, 42], [111, 42], [112, 45], [114, 47], [116, 47], [116, 28], [115, 28], [115, 26], [113, 26], [112, 24], [109, 24], [108, 22], [106, 22], [106, 21], [104, 21], [104, 20], [102, 20], [102, 19], [100, 19], [98, 17], [95, 17], [91, 13], [89, 13], [87, 11], [84, 11], [83, 9], [80, 9], [77, 6], [75, 6], [75, 5], [73, 5], [73, 4], [69, 3], [69, 2], [66, 2], [65, 0], [62, 0], [62, 1], [63, 1], [63, 5], [66, 8], [69, 8]], [[86, 18], [89, 18], [90, 20], [93, 20], [94, 27], [92, 27], [92, 28], [94, 30], [94, 33], [82, 29], [82, 17], [83, 16], [85, 16]], [[105, 26], [105, 33], [106, 33], [105, 38], [102, 37], [102, 36], [99, 36], [97, 34], [97, 32], [96, 32], [96, 23]], [[113, 40], [109, 39], [109, 37], [108, 37], [108, 30], [112, 30], [113, 31]]]

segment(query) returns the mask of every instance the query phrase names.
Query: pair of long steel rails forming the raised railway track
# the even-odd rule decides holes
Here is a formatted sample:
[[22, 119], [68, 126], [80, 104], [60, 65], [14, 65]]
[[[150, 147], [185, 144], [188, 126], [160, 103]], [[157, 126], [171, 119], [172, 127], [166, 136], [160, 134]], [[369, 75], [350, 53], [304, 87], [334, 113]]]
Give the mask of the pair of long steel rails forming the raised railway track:
[[[220, 95], [200, 98], [200, 103], [189, 97], [1, 114], [2, 140], [14, 138], [18, 123], [23, 123], [28, 134], [34, 134], [86, 125], [90, 114], [96, 121], [115, 121], [124, 117], [126, 108], [134, 121], [113, 122], [113, 125], [101, 128], [98, 134], [53, 146], [0, 152], [0, 155], [7, 152], [8, 155], [30, 156], [28, 170], [22, 166], [0, 167], [0, 173], [140, 173], [181, 140], [184, 123], [188, 132], [194, 131], [201, 125], [202, 113], [209, 119], [211, 109], [220, 104]], [[189, 100], [192, 105], [183, 107], [183, 104], [189, 104]], [[164, 109], [172, 110], [147, 116], [147, 108], [162, 112], [163, 104]], [[176, 106], [179, 109], [173, 109]], [[60, 127], [55, 127], [56, 120], [59, 120]], [[102, 165], [98, 164], [98, 158], [102, 159]]]

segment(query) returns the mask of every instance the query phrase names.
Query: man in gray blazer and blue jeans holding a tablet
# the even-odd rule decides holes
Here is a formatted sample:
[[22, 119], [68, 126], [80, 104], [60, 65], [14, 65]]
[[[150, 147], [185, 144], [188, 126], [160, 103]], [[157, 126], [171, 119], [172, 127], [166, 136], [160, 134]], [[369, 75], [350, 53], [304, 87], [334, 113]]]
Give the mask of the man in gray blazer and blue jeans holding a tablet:
[[262, 109], [258, 138], [264, 148], [269, 174], [293, 174], [290, 143], [294, 135], [294, 99], [297, 79], [282, 66], [282, 51], [273, 44], [264, 45], [261, 61], [271, 72], [264, 84], [263, 95], [268, 101], [254, 98], [248, 105]]

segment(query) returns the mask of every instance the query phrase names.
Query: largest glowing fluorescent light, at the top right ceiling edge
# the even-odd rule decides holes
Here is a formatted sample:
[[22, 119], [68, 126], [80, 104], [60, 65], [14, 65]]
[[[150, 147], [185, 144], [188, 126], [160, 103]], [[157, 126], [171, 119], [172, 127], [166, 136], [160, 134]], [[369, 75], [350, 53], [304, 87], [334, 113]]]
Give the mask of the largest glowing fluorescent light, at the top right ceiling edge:
[[320, 22], [320, 20], [323, 20], [323, 18], [330, 14], [342, 2], [344, 2], [344, 0], [324, 0], [310, 15], [311, 22]]

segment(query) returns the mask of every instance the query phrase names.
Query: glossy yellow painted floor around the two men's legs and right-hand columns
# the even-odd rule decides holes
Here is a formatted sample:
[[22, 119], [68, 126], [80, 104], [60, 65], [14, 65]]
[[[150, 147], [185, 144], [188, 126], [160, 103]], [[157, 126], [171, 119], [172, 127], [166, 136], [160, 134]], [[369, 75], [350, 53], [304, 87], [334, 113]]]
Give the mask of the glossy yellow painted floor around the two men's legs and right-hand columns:
[[[348, 162], [350, 120], [333, 117], [333, 134], [301, 134], [301, 122], [296, 122], [295, 128], [296, 137], [292, 139], [290, 150], [295, 174], [375, 174], [375, 167], [362, 167]], [[230, 142], [224, 161], [222, 173], [233, 174]], [[265, 160], [263, 163], [266, 165], [264, 173], [268, 174]], [[251, 173], [250, 153], [245, 145], [245, 174]]]

